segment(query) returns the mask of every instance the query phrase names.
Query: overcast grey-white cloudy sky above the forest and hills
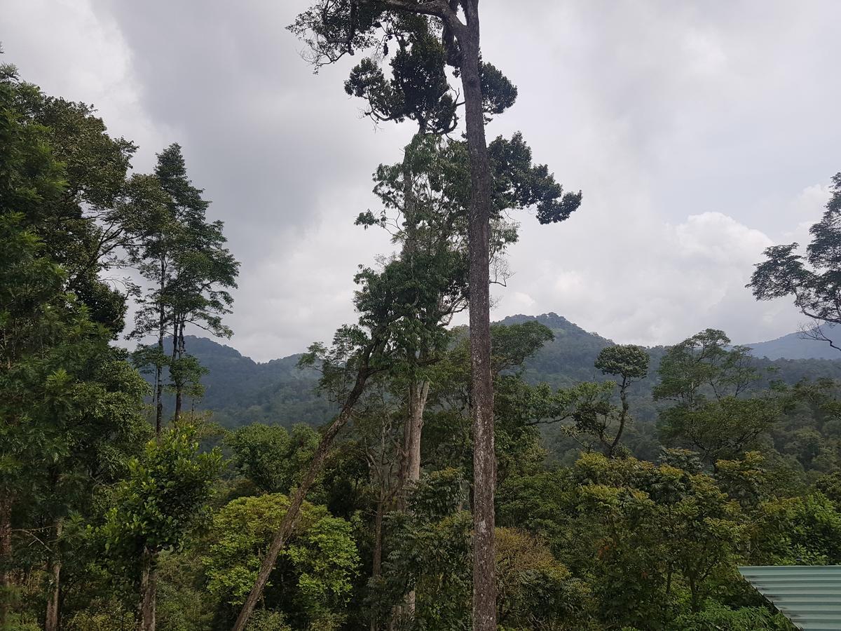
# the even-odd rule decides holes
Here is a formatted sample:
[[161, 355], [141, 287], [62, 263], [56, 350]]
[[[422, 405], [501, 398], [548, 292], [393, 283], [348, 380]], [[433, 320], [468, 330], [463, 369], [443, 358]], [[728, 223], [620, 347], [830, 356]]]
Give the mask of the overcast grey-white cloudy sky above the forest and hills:
[[[93, 103], [135, 172], [178, 142], [241, 261], [230, 346], [258, 361], [355, 320], [352, 276], [393, 247], [352, 225], [411, 124], [373, 125], [285, 26], [307, 0], [0, 0], [3, 61]], [[616, 342], [796, 331], [744, 288], [765, 247], [807, 242], [841, 171], [836, 0], [483, 0], [483, 55], [519, 88], [521, 130], [584, 202], [516, 215], [493, 316], [554, 311]]]

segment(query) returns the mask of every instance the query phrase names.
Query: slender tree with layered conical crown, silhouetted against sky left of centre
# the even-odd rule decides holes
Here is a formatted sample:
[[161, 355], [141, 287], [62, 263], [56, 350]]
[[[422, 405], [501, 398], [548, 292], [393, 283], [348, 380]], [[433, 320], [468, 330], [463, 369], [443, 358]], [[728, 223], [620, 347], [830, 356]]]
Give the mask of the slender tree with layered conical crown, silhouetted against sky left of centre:
[[[135, 329], [130, 337], [153, 333], [156, 347], [141, 347], [136, 358], [140, 365], [155, 370], [156, 431], [163, 417], [163, 373], [168, 369], [175, 391], [177, 420], [182, 395], [190, 381], [198, 381], [200, 367], [187, 355], [184, 330], [188, 325], [230, 337], [222, 321], [230, 313], [233, 299], [228, 289], [236, 287], [239, 263], [225, 247], [221, 221], [208, 222], [209, 202], [202, 190], [188, 179], [181, 147], [168, 146], [158, 154], [154, 179], [144, 178], [135, 188], [135, 204], [150, 210], [134, 226], [132, 260], [150, 283], [140, 296]], [[164, 351], [167, 333], [172, 335], [172, 351]]]

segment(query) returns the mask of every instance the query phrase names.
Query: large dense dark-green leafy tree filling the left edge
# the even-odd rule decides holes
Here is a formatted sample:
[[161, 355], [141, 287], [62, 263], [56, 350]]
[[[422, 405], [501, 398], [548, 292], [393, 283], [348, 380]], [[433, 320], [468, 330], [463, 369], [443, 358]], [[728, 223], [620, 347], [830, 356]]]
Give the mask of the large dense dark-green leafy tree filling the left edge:
[[0, 68], [0, 136], [0, 619], [24, 569], [15, 540], [40, 542], [27, 567], [48, 569], [52, 631], [64, 519], [87, 509], [142, 435], [145, 384], [108, 345], [124, 310], [98, 279], [111, 246], [84, 214], [115, 205], [130, 151], [89, 109], [45, 98], [10, 66]]

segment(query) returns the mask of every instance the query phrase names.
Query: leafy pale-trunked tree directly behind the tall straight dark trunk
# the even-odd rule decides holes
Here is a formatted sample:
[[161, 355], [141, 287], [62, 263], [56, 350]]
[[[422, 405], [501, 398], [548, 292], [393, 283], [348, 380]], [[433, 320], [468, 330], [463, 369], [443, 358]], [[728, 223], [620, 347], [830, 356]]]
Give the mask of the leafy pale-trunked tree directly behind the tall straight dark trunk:
[[[504, 219], [507, 211], [531, 205], [544, 207], [563, 196], [563, 188], [532, 163], [532, 153], [520, 134], [510, 140], [499, 137], [489, 147], [494, 173], [490, 256], [496, 282], [505, 282], [504, 255], [516, 241], [516, 225]], [[409, 182], [407, 183], [407, 178]], [[409, 410], [405, 432], [404, 478], [414, 483], [420, 475], [421, 428], [429, 395], [428, 373], [440, 358], [430, 346], [430, 336], [440, 338], [446, 326], [468, 299], [467, 224], [470, 171], [463, 141], [442, 141], [436, 135], [417, 135], [406, 147], [401, 164], [380, 166], [375, 174], [375, 194], [383, 202], [378, 215], [362, 213], [357, 224], [380, 225], [401, 246], [400, 256], [409, 263], [415, 291], [436, 289], [438, 300], [419, 300], [432, 305], [415, 310], [400, 337], [404, 362], [399, 364], [399, 383], [407, 390]], [[542, 205], [543, 204], [543, 205]], [[500, 270], [502, 270], [500, 272]]]

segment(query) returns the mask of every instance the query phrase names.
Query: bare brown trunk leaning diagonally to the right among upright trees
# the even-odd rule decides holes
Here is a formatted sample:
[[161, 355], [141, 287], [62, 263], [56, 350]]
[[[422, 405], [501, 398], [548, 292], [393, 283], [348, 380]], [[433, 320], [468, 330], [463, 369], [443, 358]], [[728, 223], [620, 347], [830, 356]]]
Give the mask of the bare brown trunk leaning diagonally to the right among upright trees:
[[309, 463], [309, 469], [307, 469], [306, 475], [304, 475], [304, 479], [301, 480], [298, 489], [295, 490], [295, 495], [293, 496], [292, 501], [289, 502], [289, 507], [286, 514], [283, 515], [278, 532], [275, 533], [274, 538], [272, 539], [272, 544], [269, 546], [266, 556], [262, 559], [260, 571], [257, 573], [257, 581], [255, 581], [254, 587], [251, 589], [251, 593], [248, 595], [245, 604], [243, 604], [242, 609], [240, 610], [240, 615], [236, 618], [232, 631], [243, 631], [243, 629], [246, 628], [248, 619], [251, 618], [251, 612], [253, 612], [254, 607], [257, 606], [257, 601], [259, 601], [262, 596], [262, 591], [266, 586], [268, 577], [272, 574], [274, 564], [278, 560], [278, 554], [280, 554], [280, 551], [288, 541], [288, 538], [292, 536], [295, 525], [298, 523], [301, 516], [301, 505], [304, 503], [304, 498], [307, 496], [309, 487], [313, 485], [315, 478], [319, 475], [321, 469], [323, 468], [324, 460], [327, 457], [327, 452], [333, 444], [333, 440], [336, 438], [336, 435], [339, 433], [341, 428], [345, 427], [346, 423], [350, 420], [353, 408], [357, 405], [359, 397], [362, 396], [362, 393], [365, 390], [365, 384], [368, 381], [368, 377], [372, 374], [368, 368], [372, 353], [373, 343], [366, 349], [362, 357], [362, 361], [357, 372], [356, 382], [353, 384], [352, 390], [347, 395], [347, 399], [345, 400], [344, 406], [341, 407], [339, 416], [336, 416], [336, 420], [331, 423], [331, 426], [327, 428], [326, 432], [324, 432], [324, 436], [321, 437], [318, 447], [315, 449], [315, 453], [313, 454], [313, 459]]

